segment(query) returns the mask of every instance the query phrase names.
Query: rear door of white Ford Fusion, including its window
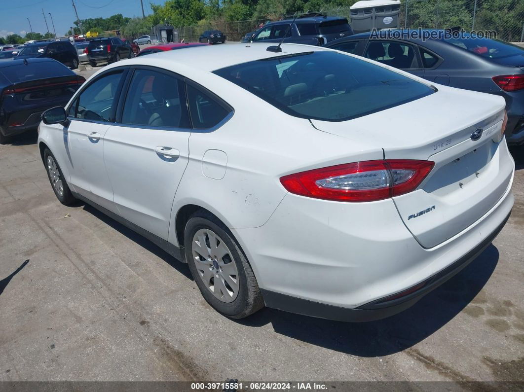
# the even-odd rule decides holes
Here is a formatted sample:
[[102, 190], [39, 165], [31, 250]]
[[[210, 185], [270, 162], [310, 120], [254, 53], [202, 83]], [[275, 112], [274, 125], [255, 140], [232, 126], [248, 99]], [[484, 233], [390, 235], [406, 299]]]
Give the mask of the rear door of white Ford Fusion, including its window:
[[104, 140], [104, 161], [118, 214], [167, 239], [171, 205], [189, 159], [184, 82], [174, 73], [134, 66]]

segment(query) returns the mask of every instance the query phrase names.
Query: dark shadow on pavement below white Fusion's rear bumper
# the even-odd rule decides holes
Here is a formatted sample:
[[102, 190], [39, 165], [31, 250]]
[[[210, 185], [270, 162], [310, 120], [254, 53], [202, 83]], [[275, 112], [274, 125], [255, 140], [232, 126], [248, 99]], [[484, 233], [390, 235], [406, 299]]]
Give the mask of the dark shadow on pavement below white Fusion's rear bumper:
[[252, 327], [271, 323], [277, 333], [346, 354], [390, 355], [429, 337], [470, 304], [495, 270], [498, 257], [497, 248], [489, 245], [464, 270], [411, 308], [383, 320], [345, 323], [265, 308], [234, 321]]

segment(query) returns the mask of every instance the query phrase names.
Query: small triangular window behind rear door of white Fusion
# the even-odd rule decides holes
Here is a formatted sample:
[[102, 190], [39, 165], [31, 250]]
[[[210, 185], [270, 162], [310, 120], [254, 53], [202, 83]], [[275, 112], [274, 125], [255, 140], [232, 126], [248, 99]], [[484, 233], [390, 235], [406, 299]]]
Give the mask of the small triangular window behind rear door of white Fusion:
[[199, 88], [195, 88], [188, 84], [187, 89], [189, 111], [191, 113], [193, 128], [213, 128], [230, 114], [230, 108], [226, 108]]

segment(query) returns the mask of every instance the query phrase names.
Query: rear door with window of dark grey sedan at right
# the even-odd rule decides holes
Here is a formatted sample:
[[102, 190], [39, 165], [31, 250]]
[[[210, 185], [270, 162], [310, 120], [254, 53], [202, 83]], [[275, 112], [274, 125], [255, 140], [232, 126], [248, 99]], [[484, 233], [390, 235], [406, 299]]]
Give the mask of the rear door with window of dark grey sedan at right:
[[418, 47], [394, 40], [369, 40], [364, 57], [424, 77]]

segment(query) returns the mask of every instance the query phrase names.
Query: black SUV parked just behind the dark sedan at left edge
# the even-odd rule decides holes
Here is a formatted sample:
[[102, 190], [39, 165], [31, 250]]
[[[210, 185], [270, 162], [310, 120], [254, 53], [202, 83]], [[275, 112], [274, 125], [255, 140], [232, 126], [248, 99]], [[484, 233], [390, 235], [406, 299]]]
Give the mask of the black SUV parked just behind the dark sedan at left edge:
[[72, 70], [78, 68], [77, 49], [69, 41], [34, 42], [24, 45], [18, 52], [17, 59], [48, 57], [57, 60]]

